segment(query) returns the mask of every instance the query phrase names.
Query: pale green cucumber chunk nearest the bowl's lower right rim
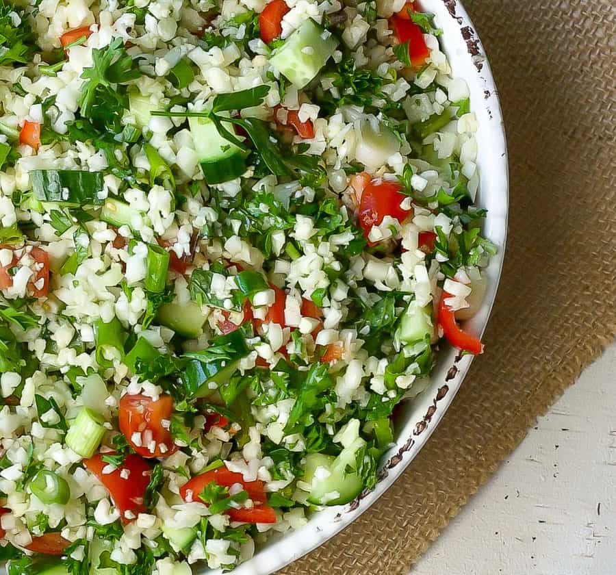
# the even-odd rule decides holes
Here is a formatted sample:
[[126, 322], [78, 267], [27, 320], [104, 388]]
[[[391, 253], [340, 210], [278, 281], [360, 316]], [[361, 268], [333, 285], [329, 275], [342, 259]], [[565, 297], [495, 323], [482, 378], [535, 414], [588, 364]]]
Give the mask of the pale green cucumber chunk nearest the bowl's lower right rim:
[[342, 505], [357, 497], [363, 489], [363, 479], [355, 469], [355, 455], [365, 446], [357, 437], [345, 447], [338, 457], [322, 453], [309, 453], [304, 466], [302, 481], [311, 485], [308, 501], [316, 505]]

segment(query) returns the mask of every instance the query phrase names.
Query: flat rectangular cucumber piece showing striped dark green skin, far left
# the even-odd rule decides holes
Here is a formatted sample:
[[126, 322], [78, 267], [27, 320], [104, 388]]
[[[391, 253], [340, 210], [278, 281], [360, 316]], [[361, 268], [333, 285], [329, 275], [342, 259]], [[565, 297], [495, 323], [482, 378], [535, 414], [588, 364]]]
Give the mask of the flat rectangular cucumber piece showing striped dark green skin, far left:
[[36, 199], [61, 205], [97, 205], [103, 203], [102, 172], [83, 170], [33, 170], [30, 183]]

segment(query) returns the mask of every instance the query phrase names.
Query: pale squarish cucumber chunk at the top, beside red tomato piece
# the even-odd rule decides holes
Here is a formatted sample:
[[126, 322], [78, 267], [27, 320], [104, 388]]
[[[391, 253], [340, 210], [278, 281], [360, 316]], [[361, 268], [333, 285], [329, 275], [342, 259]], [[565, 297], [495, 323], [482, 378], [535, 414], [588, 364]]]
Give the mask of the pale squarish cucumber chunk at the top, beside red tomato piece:
[[335, 36], [309, 18], [273, 51], [270, 63], [294, 86], [304, 88], [316, 77], [337, 45]]

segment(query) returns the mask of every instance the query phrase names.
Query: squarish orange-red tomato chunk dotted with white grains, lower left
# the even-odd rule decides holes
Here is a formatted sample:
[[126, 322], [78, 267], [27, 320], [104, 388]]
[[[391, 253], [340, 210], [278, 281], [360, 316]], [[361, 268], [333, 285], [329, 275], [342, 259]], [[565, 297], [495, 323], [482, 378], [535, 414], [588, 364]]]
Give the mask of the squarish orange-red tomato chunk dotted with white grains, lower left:
[[[118, 423], [131, 447], [142, 457], [168, 457], [177, 450], [171, 439], [168, 424], [173, 413], [173, 398], [162, 395], [156, 401], [141, 394], [125, 394], [120, 399]], [[140, 442], [133, 442], [133, 433], [139, 433]], [[150, 442], [156, 442], [154, 450]], [[138, 445], [138, 444], [141, 445]]]

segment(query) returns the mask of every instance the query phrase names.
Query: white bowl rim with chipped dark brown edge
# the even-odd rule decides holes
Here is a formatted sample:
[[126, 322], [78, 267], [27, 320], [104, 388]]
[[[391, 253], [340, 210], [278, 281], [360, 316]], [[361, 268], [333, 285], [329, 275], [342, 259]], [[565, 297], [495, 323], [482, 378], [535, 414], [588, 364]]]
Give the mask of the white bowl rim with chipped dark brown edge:
[[[452, 75], [467, 81], [471, 109], [478, 118], [478, 166], [480, 191], [478, 204], [488, 210], [483, 232], [498, 246], [498, 255], [487, 268], [488, 288], [483, 306], [467, 323], [474, 333], [483, 333], [496, 296], [507, 231], [508, 168], [504, 126], [496, 85], [483, 46], [461, 2], [421, 0], [422, 10], [435, 14], [443, 30], [441, 42], [448, 55]], [[492, 353], [487, 348], [485, 353]], [[418, 398], [401, 410], [396, 427], [396, 446], [383, 457], [381, 479], [373, 491], [357, 500], [314, 513], [307, 525], [284, 535], [276, 535], [259, 549], [255, 557], [233, 570], [233, 575], [266, 575], [320, 546], [342, 531], [363, 513], [396, 481], [424, 446], [457, 393], [472, 361], [466, 355], [457, 361], [457, 350], [444, 346], [439, 353], [432, 383]], [[481, 361], [481, 357], [477, 361]], [[427, 415], [427, 417], [426, 417]], [[211, 573], [209, 570], [202, 573]]]

